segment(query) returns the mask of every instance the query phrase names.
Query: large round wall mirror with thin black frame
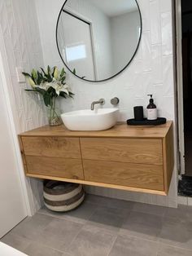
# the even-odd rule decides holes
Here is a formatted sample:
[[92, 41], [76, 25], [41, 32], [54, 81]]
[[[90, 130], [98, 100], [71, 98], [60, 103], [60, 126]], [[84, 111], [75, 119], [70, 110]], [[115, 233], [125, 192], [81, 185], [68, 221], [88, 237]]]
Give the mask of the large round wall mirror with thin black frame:
[[136, 0], [67, 0], [56, 29], [63, 63], [91, 82], [123, 71], [136, 54], [141, 34]]

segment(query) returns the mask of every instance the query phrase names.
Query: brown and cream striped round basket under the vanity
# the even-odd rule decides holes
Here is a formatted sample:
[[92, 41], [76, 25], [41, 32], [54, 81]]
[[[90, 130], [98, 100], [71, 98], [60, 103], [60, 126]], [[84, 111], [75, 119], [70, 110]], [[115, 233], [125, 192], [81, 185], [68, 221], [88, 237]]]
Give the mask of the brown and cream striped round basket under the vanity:
[[81, 205], [85, 192], [81, 184], [46, 180], [43, 184], [43, 197], [48, 209], [65, 212]]

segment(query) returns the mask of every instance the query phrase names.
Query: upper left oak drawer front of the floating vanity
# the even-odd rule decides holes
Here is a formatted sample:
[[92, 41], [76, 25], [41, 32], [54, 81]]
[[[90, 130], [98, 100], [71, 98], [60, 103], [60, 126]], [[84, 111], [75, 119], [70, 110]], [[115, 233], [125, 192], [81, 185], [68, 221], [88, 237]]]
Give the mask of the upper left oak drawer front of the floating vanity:
[[28, 156], [81, 158], [79, 138], [22, 137]]

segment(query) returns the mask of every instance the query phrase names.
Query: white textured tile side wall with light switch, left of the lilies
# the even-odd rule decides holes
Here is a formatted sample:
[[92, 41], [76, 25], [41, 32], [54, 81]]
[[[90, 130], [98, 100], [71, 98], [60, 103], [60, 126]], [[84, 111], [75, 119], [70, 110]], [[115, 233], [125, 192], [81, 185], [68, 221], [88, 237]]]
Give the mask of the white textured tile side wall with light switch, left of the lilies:
[[[37, 95], [24, 91], [25, 83], [17, 82], [15, 67], [30, 71], [43, 66], [40, 35], [37, 25], [37, 14], [31, 0], [0, 0], [0, 37], [4, 42], [4, 64], [7, 85], [10, 92], [12, 111], [15, 117], [17, 134], [46, 124], [46, 115], [42, 111], [41, 100]], [[21, 167], [22, 168], [22, 167]], [[41, 205], [38, 191], [42, 185], [37, 179], [26, 179], [29, 196], [37, 210]], [[31, 192], [31, 184], [33, 192]]]

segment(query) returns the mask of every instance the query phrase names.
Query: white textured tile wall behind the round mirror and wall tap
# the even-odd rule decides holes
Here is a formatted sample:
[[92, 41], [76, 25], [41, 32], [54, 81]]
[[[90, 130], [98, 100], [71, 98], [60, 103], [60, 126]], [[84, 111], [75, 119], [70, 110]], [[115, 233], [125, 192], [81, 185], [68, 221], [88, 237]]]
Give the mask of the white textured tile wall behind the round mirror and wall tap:
[[[63, 66], [55, 42], [55, 27], [63, 0], [35, 0], [39, 21], [44, 64]], [[142, 12], [142, 42], [133, 62], [123, 73], [107, 81], [90, 83], [68, 74], [68, 84], [75, 93], [74, 100], [61, 100], [63, 112], [89, 108], [94, 99], [120, 98], [120, 121], [133, 117], [133, 106], [148, 104], [147, 94], [153, 94], [159, 116], [175, 121], [172, 0], [139, 0]], [[157, 205], [177, 205], [177, 167], [172, 175], [168, 196], [122, 192], [88, 187], [89, 192]]]

